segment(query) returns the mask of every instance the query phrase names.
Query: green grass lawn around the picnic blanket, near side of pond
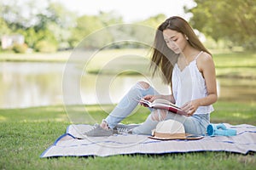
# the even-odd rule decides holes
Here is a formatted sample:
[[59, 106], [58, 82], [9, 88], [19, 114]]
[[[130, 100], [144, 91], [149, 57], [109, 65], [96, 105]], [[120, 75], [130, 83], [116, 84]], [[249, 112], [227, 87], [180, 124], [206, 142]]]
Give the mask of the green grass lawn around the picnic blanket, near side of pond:
[[[214, 107], [212, 122], [256, 124], [255, 103], [239, 105], [220, 101]], [[93, 120], [100, 122], [107, 116], [105, 111], [112, 109], [113, 105], [73, 105], [66, 112], [62, 105], [55, 105], [0, 110], [0, 169], [254, 169], [256, 166], [254, 153], [228, 152], [39, 158], [65, 133], [73, 117], [82, 117], [87, 111]], [[138, 107], [124, 122], [143, 122], [148, 114], [146, 108]]]

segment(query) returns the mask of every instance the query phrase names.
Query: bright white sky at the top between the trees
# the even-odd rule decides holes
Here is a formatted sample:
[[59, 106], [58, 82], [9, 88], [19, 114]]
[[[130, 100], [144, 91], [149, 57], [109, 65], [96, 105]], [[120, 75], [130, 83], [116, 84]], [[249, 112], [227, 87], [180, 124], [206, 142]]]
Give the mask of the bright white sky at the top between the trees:
[[99, 11], [121, 15], [125, 22], [145, 20], [156, 14], [166, 14], [166, 17], [178, 15], [189, 20], [190, 15], [184, 14], [183, 6], [194, 7], [193, 0], [51, 0], [60, 2], [66, 8], [79, 15], [98, 14]]

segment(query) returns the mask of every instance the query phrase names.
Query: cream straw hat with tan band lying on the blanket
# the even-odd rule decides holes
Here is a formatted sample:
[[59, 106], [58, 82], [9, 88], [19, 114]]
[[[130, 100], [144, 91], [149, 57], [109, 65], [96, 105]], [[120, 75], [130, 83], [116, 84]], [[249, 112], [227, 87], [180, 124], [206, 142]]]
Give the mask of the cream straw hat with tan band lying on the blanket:
[[172, 119], [159, 122], [152, 131], [150, 139], [173, 140], [173, 139], [202, 139], [203, 136], [185, 133], [184, 126], [181, 122]]

